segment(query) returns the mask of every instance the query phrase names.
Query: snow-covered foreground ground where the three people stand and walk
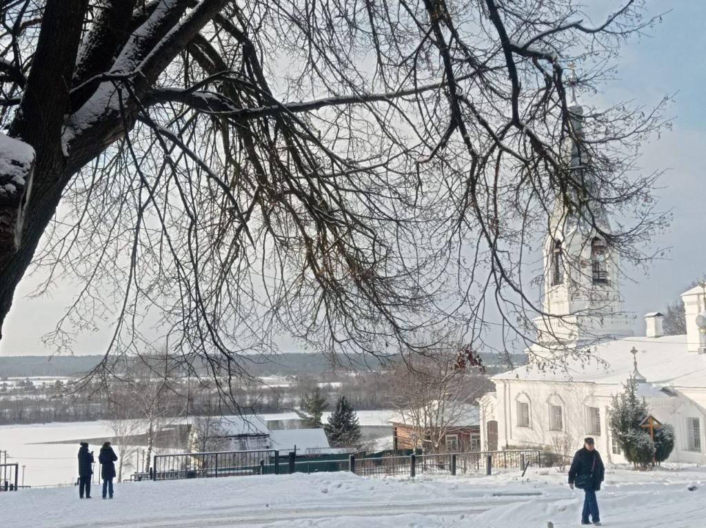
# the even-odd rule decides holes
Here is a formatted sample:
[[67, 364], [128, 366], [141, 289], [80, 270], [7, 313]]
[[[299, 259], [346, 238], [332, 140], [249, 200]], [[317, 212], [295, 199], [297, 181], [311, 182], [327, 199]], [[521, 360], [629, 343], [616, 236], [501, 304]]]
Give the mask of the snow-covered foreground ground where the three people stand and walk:
[[[609, 469], [599, 505], [605, 526], [703, 527], [706, 469]], [[79, 500], [76, 487], [0, 493], [12, 527], [481, 527], [578, 526], [582, 491], [556, 469], [436, 479], [353, 474], [234, 476], [116, 484], [115, 498]]]

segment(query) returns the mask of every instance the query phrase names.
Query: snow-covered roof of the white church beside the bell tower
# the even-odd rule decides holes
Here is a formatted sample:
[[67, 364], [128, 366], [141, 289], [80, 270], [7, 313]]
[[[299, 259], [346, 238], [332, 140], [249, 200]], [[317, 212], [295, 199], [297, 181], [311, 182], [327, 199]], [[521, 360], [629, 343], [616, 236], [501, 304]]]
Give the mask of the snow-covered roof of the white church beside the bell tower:
[[[537, 367], [526, 365], [491, 379], [625, 383], [634, 368], [633, 354], [630, 354], [633, 347], [638, 349], [636, 359], [640, 373], [655, 391], [659, 392], [664, 386], [706, 388], [706, 354], [688, 352], [686, 335], [626, 337], [603, 342], [592, 347], [592, 358], [583, 363], [568, 359], [566, 368], [556, 371], [539, 371]], [[645, 397], [652, 396], [646, 394]]]

